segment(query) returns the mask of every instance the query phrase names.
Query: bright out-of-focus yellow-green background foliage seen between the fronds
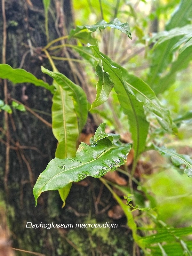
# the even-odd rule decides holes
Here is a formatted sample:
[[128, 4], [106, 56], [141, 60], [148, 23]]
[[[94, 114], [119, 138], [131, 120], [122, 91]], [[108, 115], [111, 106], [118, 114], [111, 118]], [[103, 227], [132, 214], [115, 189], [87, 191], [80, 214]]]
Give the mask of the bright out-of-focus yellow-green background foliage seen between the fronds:
[[[147, 81], [152, 55], [155, 51], [153, 44], [148, 47], [148, 41], [154, 33], [165, 30], [166, 24], [169, 23], [179, 3], [179, 0], [102, 0], [104, 20], [110, 21], [117, 15], [121, 22], [128, 22], [132, 31], [132, 41], [122, 35], [120, 31], [106, 28], [104, 31], [94, 33], [94, 36], [100, 39], [99, 47], [101, 51], [108, 54], [118, 64], [123, 65], [130, 73]], [[73, 1], [73, 6], [76, 25], [94, 24], [101, 19], [99, 1]], [[116, 13], [117, 8], [118, 12]], [[190, 24], [190, 17], [188, 22]], [[165, 73], [169, 72], [177, 55], [178, 52], [174, 52], [170, 64], [164, 70]], [[97, 80], [94, 80], [92, 70], [89, 71], [89, 66], [86, 67], [86, 71], [89, 75], [90, 85], [94, 87]], [[187, 68], [176, 72], [176, 79], [173, 83], [170, 83], [169, 88], [158, 95], [162, 104], [171, 110], [173, 119], [192, 109], [191, 81], [192, 65], [189, 62]], [[113, 113], [110, 111], [111, 107], [113, 107]], [[115, 93], [111, 92], [108, 102], [99, 110], [94, 110], [94, 112], [97, 111], [111, 130], [116, 132], [127, 130], [126, 118], [118, 105]], [[116, 122], [114, 122], [114, 119]], [[192, 120], [184, 120], [179, 125], [177, 138], [166, 135], [160, 136], [159, 139], [167, 147], [175, 147], [178, 152], [191, 155]], [[149, 160], [149, 156], [144, 158]], [[143, 177], [145, 180], [144, 186], [153, 193], [157, 200], [159, 219], [174, 227], [191, 225], [192, 180], [181, 174], [166, 160], [160, 158], [160, 156], [156, 156], [155, 159], [160, 168], [154, 169], [152, 174]]]

